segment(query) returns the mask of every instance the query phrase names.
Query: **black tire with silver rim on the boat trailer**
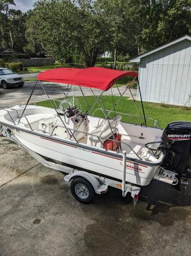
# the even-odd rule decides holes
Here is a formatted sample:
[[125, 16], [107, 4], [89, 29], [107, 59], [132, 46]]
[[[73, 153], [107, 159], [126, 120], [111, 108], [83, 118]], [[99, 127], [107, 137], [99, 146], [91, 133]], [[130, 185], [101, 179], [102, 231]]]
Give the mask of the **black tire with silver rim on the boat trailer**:
[[77, 177], [71, 181], [71, 194], [82, 203], [90, 203], [94, 200], [96, 192], [93, 186], [85, 178]]

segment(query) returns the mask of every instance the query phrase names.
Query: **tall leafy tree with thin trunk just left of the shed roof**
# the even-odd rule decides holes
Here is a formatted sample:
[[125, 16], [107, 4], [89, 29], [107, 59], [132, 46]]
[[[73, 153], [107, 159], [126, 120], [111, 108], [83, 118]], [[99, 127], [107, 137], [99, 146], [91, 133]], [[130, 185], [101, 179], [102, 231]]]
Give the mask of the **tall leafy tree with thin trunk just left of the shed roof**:
[[138, 20], [136, 15], [129, 8], [129, 0], [97, 0], [96, 7], [98, 12], [104, 15], [108, 24], [110, 34], [110, 43], [108, 45], [110, 52], [114, 55], [114, 67], [118, 56], [126, 56], [135, 48], [135, 37], [138, 33]]

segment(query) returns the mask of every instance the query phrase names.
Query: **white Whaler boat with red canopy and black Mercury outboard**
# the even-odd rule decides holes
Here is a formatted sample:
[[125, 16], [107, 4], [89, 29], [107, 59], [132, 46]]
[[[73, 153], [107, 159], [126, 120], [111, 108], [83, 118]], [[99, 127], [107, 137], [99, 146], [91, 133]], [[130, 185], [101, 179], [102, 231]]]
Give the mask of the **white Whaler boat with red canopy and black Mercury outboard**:
[[[154, 127], [149, 127], [142, 100], [142, 113], [138, 110], [141, 123], [123, 122], [123, 115], [129, 115], [132, 120], [133, 116], [116, 112], [115, 106], [120, 104], [130, 86], [123, 93], [118, 90], [120, 97], [116, 102], [113, 98], [112, 109], [105, 109], [102, 95], [112, 90], [118, 79], [127, 76], [134, 77], [133, 82], [138, 81], [138, 72], [102, 67], [44, 71], [38, 75], [26, 105], [0, 110], [0, 124], [28, 150], [97, 177], [121, 181], [125, 172], [124, 182], [139, 187], [150, 184], [153, 179], [171, 185], [187, 184], [181, 179], [189, 177], [190, 122], [174, 122], [162, 129], [153, 121]], [[63, 92], [62, 99], [51, 99], [44, 82], [57, 83], [59, 88], [59, 83], [79, 86], [86, 111], [80, 110], [79, 100], [74, 95], [68, 97]], [[52, 108], [29, 104], [37, 84]], [[88, 105], [83, 94], [84, 87], [89, 88], [94, 96], [92, 106]], [[98, 89], [100, 95], [96, 96], [94, 89]], [[139, 81], [138, 89], [141, 95]], [[97, 104], [103, 118], [90, 115]]]

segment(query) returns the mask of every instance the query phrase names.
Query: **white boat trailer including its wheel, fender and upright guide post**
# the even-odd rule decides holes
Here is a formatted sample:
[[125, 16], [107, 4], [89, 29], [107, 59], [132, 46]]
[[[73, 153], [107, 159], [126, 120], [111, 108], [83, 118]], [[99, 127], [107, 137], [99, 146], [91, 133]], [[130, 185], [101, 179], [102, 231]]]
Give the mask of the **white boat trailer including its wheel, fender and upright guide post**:
[[[64, 166], [63, 164], [59, 164], [56, 162], [51, 162], [46, 160], [44, 157], [40, 156], [38, 153], [28, 149], [25, 145], [23, 145], [14, 135], [11, 135], [9, 129], [7, 127], [0, 128], [0, 136], [5, 136], [11, 140], [13, 140], [16, 144], [18, 144], [23, 150], [29, 153], [32, 157], [34, 157], [38, 162], [43, 164], [48, 168], [52, 168], [58, 170], [59, 172], [65, 174], [63, 182], [65, 184], [70, 184], [70, 189], [73, 196], [83, 203], [89, 203], [93, 201], [94, 196], [96, 194], [104, 195], [108, 191], [108, 187], [115, 187], [116, 189], [122, 190], [122, 197], [126, 197], [128, 193], [132, 196], [134, 200], [134, 206], [139, 198], [139, 192], [141, 190], [140, 187], [134, 186], [132, 184], [127, 183], [126, 181], [126, 151], [123, 151], [123, 172], [122, 172], [122, 182], [108, 179], [102, 176], [98, 176], [96, 174], [89, 173], [88, 171], [78, 170], [74, 168], [70, 168]], [[78, 190], [73, 190], [73, 184], [76, 180], [80, 180]], [[90, 184], [90, 187], [87, 187], [86, 184]], [[92, 189], [93, 188], [93, 189]], [[91, 200], [86, 200], [86, 195], [91, 195]]]

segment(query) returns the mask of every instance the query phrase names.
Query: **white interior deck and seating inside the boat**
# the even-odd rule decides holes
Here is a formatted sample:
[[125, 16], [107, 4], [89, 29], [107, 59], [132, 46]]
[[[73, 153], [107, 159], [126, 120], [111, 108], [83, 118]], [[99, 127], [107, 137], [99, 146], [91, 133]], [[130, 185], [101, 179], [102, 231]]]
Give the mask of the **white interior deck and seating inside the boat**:
[[[22, 111], [21, 111], [22, 112]], [[90, 148], [100, 147], [104, 148], [103, 144], [106, 140], [112, 140], [114, 134], [121, 135], [121, 149], [118, 152], [126, 151], [127, 155], [132, 158], [145, 158], [147, 161], [157, 161], [157, 158], [153, 156], [150, 150], [145, 148], [145, 144], [152, 141], [160, 141], [160, 136], [162, 130], [154, 129], [150, 127], [141, 127], [134, 124], [121, 122], [121, 116], [117, 116], [114, 119], [105, 120], [104, 118], [87, 116], [88, 127], [81, 126], [81, 130], [78, 129], [79, 123], [62, 116], [57, 116], [53, 109], [48, 109], [45, 107], [33, 107], [29, 106], [26, 110], [26, 117], [22, 117], [19, 122], [19, 116], [15, 118], [15, 124], [19, 123], [19, 126], [34, 130], [34, 132], [39, 132], [41, 134], [46, 134], [51, 137], [60, 139], [71, 139], [75, 141], [74, 138], [68, 133], [74, 133], [75, 138], [78, 143], [88, 145]], [[7, 117], [9, 117], [7, 115]], [[63, 122], [65, 123], [64, 127]], [[71, 126], [71, 124], [73, 126]], [[45, 127], [45, 129], [42, 128]], [[70, 133], [70, 134], [71, 134]], [[99, 138], [98, 138], [99, 137]], [[156, 147], [157, 145], [153, 145]], [[113, 147], [114, 148], [114, 147]], [[111, 150], [111, 149], [110, 149]], [[115, 152], [116, 150], [114, 150]]]

